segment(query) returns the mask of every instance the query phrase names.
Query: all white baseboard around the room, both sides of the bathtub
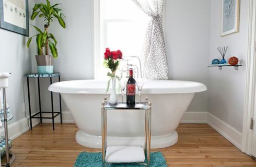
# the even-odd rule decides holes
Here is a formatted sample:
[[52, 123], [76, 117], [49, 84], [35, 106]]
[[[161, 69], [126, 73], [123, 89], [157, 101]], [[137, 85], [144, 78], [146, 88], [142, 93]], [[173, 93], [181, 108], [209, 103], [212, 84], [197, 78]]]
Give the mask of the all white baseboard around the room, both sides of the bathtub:
[[[50, 116], [49, 114], [43, 114], [43, 116]], [[62, 112], [63, 123], [75, 123], [71, 113], [69, 111]], [[54, 119], [55, 123], [60, 123], [60, 115]], [[43, 120], [43, 123], [51, 123], [52, 120]], [[29, 130], [27, 118], [22, 118], [21, 120], [8, 125], [9, 138], [15, 139], [21, 134]], [[185, 112], [181, 123], [207, 123], [212, 128], [214, 128], [220, 135], [224, 136], [237, 148], [241, 149], [242, 144], [242, 134], [238, 132], [234, 127], [226, 124], [216, 116], [208, 112]], [[32, 126], [39, 124], [38, 119], [32, 119]], [[0, 133], [4, 134], [4, 129], [0, 129]]]

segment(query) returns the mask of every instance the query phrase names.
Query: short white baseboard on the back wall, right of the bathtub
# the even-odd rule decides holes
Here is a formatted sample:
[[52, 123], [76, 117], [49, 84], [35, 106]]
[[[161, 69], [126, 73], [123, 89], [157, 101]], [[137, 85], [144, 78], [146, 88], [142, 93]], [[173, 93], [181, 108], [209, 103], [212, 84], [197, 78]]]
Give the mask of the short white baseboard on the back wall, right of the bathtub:
[[185, 112], [180, 123], [207, 123], [208, 112]]

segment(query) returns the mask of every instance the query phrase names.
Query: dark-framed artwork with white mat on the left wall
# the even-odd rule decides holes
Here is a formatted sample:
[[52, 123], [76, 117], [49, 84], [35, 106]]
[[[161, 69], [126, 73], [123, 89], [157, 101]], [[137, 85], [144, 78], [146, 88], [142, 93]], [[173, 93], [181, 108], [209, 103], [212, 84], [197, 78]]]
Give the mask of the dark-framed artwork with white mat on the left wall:
[[29, 36], [28, 0], [0, 0], [0, 28]]

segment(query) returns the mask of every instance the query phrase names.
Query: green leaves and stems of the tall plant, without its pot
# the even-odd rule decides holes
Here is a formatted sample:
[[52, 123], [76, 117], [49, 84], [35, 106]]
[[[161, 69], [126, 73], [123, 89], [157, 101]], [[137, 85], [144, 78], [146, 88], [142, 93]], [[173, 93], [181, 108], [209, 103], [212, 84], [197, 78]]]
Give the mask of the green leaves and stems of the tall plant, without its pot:
[[[55, 4], [51, 6], [51, 3], [49, 0], [46, 0], [46, 4], [36, 4], [33, 7], [33, 12], [31, 15], [31, 20], [34, 20], [37, 16], [39, 18], [43, 18], [44, 21], [46, 21], [44, 25], [44, 31], [41, 31], [38, 27], [33, 26], [39, 33], [36, 35], [33, 35], [31, 38], [28, 39], [27, 42], [27, 47], [29, 47], [30, 42], [33, 37], [37, 37], [37, 46], [38, 46], [38, 55], [49, 55], [49, 48], [51, 50], [51, 53], [54, 58], [57, 58], [58, 53], [57, 53], [57, 48], [56, 44], [57, 41], [52, 33], [49, 33], [49, 27], [51, 25], [51, 22], [53, 21], [54, 18], [56, 18], [60, 25], [63, 28], [66, 28], [65, 21], [63, 20], [63, 17], [65, 17], [62, 14], [62, 9], [57, 8], [61, 4]], [[53, 42], [50, 40], [52, 39]]]

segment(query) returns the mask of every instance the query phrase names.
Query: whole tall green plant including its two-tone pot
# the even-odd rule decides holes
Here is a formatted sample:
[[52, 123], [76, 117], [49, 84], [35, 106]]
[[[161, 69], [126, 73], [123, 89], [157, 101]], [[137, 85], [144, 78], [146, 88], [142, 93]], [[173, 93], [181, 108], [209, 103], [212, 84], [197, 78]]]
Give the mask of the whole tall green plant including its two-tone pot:
[[[40, 74], [52, 74], [53, 73], [53, 58], [57, 58], [57, 41], [52, 33], [49, 33], [49, 27], [53, 19], [57, 19], [61, 27], [66, 28], [65, 21], [62, 14], [62, 10], [57, 8], [61, 4], [55, 4], [51, 6], [49, 0], [46, 0], [46, 4], [36, 4], [33, 7], [33, 12], [31, 15], [31, 20], [34, 20], [37, 16], [43, 18], [45, 21], [44, 31], [40, 28], [33, 26], [37, 30], [37, 34], [33, 35], [28, 39], [27, 47], [29, 47], [33, 37], [36, 37], [37, 42], [37, 52], [36, 55], [38, 73]], [[52, 55], [49, 54], [49, 49]]]

